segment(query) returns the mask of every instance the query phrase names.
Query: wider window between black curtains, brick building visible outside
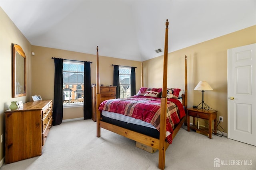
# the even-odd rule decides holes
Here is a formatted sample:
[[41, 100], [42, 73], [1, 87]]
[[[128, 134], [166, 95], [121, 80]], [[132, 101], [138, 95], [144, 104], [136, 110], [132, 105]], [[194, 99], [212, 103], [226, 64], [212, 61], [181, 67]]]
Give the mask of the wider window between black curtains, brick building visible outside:
[[63, 106], [83, 105], [84, 62], [63, 62]]

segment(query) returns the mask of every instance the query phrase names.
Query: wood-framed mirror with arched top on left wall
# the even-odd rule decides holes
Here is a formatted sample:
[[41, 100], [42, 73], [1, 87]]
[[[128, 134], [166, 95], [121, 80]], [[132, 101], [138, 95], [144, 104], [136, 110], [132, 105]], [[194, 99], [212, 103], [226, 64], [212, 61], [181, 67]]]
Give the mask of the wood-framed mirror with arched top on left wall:
[[12, 97], [26, 96], [26, 55], [17, 44], [12, 44]]

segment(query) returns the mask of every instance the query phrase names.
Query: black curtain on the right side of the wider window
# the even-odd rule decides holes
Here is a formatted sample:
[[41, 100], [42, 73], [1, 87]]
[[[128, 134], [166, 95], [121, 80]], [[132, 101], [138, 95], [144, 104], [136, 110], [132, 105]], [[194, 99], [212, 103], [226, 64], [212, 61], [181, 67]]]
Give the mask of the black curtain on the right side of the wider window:
[[92, 90], [90, 62], [84, 62], [84, 119], [92, 118]]

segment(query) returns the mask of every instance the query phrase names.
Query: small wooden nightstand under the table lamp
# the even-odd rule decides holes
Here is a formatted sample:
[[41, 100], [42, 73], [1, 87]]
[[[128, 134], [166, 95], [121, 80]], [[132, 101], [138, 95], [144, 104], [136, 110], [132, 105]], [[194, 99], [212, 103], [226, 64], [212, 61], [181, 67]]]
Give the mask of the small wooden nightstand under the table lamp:
[[[193, 125], [190, 126], [190, 116], [193, 117]], [[209, 128], [199, 127], [199, 125], [195, 124], [195, 120], [197, 118], [207, 119], [209, 121]], [[214, 129], [212, 130], [212, 121], [214, 121]], [[187, 109], [187, 126], [188, 131], [194, 129], [196, 131], [200, 131], [203, 133], [208, 133], [209, 138], [212, 138], [212, 131], [214, 134], [217, 133], [217, 111], [216, 110], [205, 110], [205, 109], [196, 109], [196, 108], [188, 108]]]

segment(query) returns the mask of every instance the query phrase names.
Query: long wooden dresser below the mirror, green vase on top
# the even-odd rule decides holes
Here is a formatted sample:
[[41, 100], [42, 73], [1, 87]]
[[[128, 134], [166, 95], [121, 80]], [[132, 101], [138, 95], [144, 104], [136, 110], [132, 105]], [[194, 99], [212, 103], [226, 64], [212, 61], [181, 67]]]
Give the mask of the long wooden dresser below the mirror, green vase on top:
[[40, 156], [52, 126], [52, 100], [5, 111], [5, 163]]

